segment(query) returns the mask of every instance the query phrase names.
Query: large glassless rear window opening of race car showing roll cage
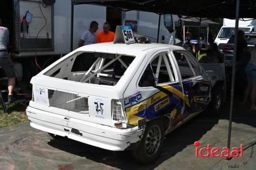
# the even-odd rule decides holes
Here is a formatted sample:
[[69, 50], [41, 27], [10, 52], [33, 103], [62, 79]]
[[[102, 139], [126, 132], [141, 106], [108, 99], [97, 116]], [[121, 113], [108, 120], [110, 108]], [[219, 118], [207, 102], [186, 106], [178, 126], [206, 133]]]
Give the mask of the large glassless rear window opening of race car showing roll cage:
[[108, 53], [76, 53], [45, 73], [76, 82], [115, 86], [134, 56]]

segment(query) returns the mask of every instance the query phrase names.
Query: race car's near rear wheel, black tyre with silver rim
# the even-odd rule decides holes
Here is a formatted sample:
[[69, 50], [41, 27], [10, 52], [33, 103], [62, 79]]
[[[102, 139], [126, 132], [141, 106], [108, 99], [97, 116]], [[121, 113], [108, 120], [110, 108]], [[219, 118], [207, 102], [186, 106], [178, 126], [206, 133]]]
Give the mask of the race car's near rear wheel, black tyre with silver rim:
[[132, 155], [137, 162], [142, 164], [153, 163], [159, 156], [164, 142], [164, 126], [160, 120], [152, 120], [147, 124], [139, 147], [132, 151]]

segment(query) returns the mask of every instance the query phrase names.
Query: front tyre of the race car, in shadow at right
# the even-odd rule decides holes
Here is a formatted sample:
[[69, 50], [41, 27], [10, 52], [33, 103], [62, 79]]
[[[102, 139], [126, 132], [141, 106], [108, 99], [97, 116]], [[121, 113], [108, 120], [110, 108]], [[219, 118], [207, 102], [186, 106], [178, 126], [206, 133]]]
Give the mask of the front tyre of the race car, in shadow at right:
[[222, 94], [223, 90], [222, 90], [222, 86], [217, 86], [217, 88], [215, 88], [214, 93], [212, 95], [212, 100], [210, 103], [210, 113], [211, 115], [214, 116], [220, 116], [221, 114], [221, 108], [223, 105], [223, 94]]

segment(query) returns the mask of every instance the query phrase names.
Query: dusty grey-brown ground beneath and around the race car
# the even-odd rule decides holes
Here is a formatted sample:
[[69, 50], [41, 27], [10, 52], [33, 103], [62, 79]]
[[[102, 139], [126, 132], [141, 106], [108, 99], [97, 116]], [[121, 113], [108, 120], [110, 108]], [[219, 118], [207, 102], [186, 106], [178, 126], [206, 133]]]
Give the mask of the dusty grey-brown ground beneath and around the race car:
[[[0, 169], [256, 169], [256, 112], [235, 103], [231, 148], [243, 143], [243, 158], [195, 157], [200, 147], [227, 145], [229, 103], [220, 117], [204, 112], [168, 134], [160, 157], [136, 163], [129, 151], [112, 152], [71, 139], [53, 139], [28, 123], [0, 128]], [[199, 148], [200, 148], [199, 147]], [[254, 151], [254, 152], [253, 152]]]

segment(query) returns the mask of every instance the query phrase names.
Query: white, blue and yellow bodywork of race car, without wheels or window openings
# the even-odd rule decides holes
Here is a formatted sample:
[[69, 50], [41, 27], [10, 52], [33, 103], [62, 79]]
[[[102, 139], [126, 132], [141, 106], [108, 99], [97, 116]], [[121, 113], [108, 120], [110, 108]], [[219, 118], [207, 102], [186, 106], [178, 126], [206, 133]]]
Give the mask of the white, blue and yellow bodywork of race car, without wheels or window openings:
[[[211, 82], [199, 64], [201, 75], [182, 80], [173, 51], [188, 55], [182, 47], [154, 43], [127, 45], [110, 42], [78, 48], [32, 78], [33, 100], [27, 108], [30, 125], [42, 131], [67, 136], [112, 151], [128, 150], [135, 147], [142, 138], [145, 122], [159, 116], [166, 116], [164, 114], [174, 120], [174, 123], [169, 122], [167, 125], [166, 133], [175, 129], [207, 107], [211, 96]], [[76, 79], [72, 81], [71, 78], [63, 80], [49, 76], [58, 67], [65, 68], [64, 72], [71, 70], [74, 61], [70, 58], [80, 52], [118, 54], [135, 58], [120, 80], [113, 86], [90, 84], [90, 81], [84, 83]], [[169, 71], [173, 72], [175, 81], [160, 83], [156, 87], [139, 87], [139, 80], [141, 80], [147, 65], [162, 54], [166, 54], [166, 56], [162, 56], [164, 63], [169, 61], [172, 66], [172, 70], [169, 69]], [[161, 63], [155, 66], [162, 67]], [[189, 70], [189, 67], [187, 69]], [[59, 72], [61, 73], [63, 70], [60, 69]], [[72, 74], [69, 75], [72, 77]], [[83, 75], [86, 76], [86, 73], [84, 72]], [[168, 71], [167, 75], [170, 77]], [[199, 93], [196, 94], [194, 90], [195, 92], [190, 95], [190, 88], [194, 87], [198, 89], [196, 91]], [[69, 101], [62, 99], [62, 97], [66, 99], [67, 96], [73, 95], [76, 98]], [[78, 101], [80, 98], [86, 101], [84, 103], [88, 104], [88, 110], [74, 110], [77, 107], [74, 101]], [[101, 103], [97, 101], [101, 101]], [[51, 102], [57, 104], [53, 106]], [[170, 106], [173, 110], [163, 114], [162, 110]], [[69, 109], [64, 109], [66, 107]], [[113, 118], [114, 114], [118, 114], [118, 116], [122, 114], [123, 118], [119, 117], [117, 120], [118, 116], [115, 119]], [[140, 122], [140, 120], [145, 120], [145, 122]], [[120, 124], [121, 128], [118, 127]]]

